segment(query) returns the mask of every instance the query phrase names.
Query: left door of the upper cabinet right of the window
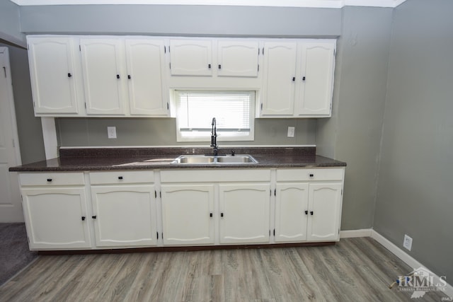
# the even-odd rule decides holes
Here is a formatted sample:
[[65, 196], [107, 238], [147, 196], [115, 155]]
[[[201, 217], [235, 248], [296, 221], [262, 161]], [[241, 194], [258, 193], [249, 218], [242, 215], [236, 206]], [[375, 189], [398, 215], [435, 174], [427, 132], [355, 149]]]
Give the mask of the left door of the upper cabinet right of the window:
[[292, 116], [296, 81], [297, 44], [266, 42], [260, 116]]

